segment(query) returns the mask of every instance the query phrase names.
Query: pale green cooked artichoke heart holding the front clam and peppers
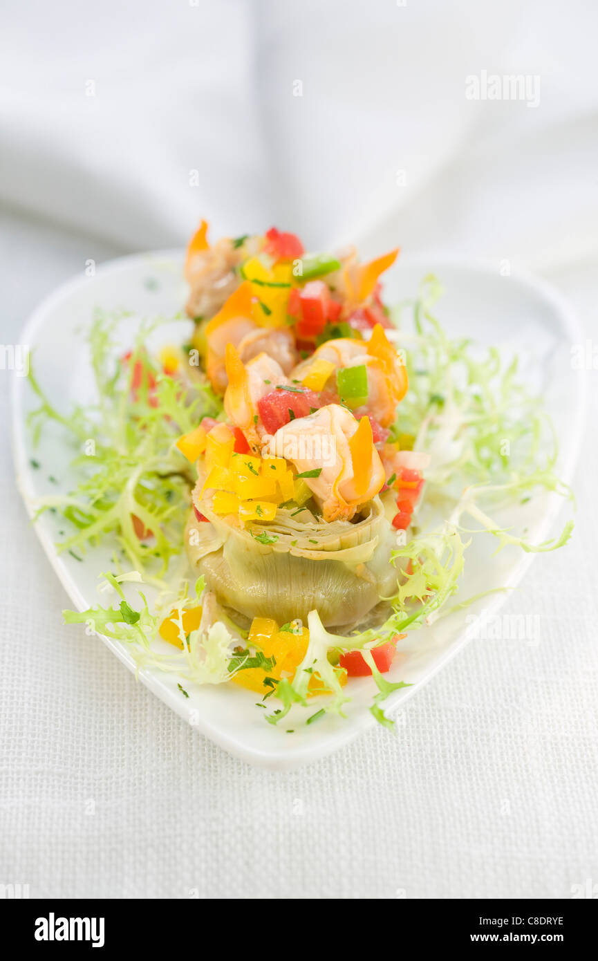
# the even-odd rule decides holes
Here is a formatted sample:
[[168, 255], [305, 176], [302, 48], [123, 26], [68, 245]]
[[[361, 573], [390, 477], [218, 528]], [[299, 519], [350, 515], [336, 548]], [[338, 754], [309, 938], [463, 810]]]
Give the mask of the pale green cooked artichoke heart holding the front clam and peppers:
[[215, 514], [212, 497], [201, 491], [200, 480], [193, 503], [208, 523], [191, 511], [187, 554], [219, 604], [279, 624], [307, 620], [315, 608], [324, 625], [340, 628], [396, 589], [396, 540], [379, 496], [353, 522], [327, 523], [308, 509], [279, 507], [273, 521], [244, 528], [236, 515]]

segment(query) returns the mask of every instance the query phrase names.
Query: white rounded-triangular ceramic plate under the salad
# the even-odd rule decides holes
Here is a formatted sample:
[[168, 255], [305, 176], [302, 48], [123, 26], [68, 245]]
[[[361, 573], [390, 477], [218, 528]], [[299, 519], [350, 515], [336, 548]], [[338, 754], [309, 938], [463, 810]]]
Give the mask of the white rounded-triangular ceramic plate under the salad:
[[[87, 327], [93, 309], [127, 308], [137, 316], [172, 315], [185, 302], [182, 262], [183, 255], [172, 251], [113, 260], [100, 267], [94, 277], [77, 277], [63, 284], [37, 308], [21, 342], [35, 352], [37, 379], [59, 409], [67, 410], [74, 402], [85, 403], [90, 396], [86, 348], [77, 332]], [[561, 477], [570, 480], [583, 428], [585, 381], [570, 363], [571, 345], [581, 343], [582, 338], [569, 308], [546, 283], [521, 275], [503, 277], [494, 264], [441, 256], [401, 257], [386, 283], [388, 303], [414, 297], [422, 276], [431, 271], [445, 287], [436, 314], [451, 335], [468, 335], [484, 344], [516, 349], [526, 358], [530, 380], [544, 392], [560, 436]], [[132, 326], [134, 323], [132, 320]], [[181, 322], [181, 342], [187, 339], [189, 327], [186, 321]], [[170, 328], [168, 333], [161, 334], [162, 340], [172, 340], [173, 333]], [[123, 349], [127, 346], [124, 344]], [[60, 431], [44, 431], [40, 447], [33, 450], [25, 420], [27, 412], [36, 406], [27, 380], [15, 377], [16, 480], [30, 515], [37, 497], [57, 493], [61, 487], [67, 489], [67, 468], [72, 458], [72, 449]], [[30, 466], [32, 457], [41, 463], [41, 469]], [[48, 480], [50, 476], [59, 481], [59, 486]], [[529, 536], [540, 541], [556, 533], [559, 509], [554, 495], [541, 495], [525, 508], [518, 507], [517, 519], [520, 523], [521, 511], [525, 510]], [[99, 600], [98, 574], [110, 569], [110, 552], [89, 552], [83, 563], [67, 554], [59, 556], [54, 546], [59, 527], [56, 518], [47, 513], [36, 525], [43, 548], [72, 603], [85, 610]], [[460, 597], [474, 596], [489, 587], [515, 586], [534, 557], [509, 548], [491, 558], [494, 545], [486, 543], [490, 540], [474, 537], [466, 554]], [[506, 596], [491, 595], [467, 613], [484, 608], [491, 615]], [[466, 612], [460, 611], [433, 628], [410, 635], [407, 659], [395, 665], [388, 677], [404, 679], [412, 686], [389, 697], [387, 713], [392, 714], [399, 704], [412, 697], [461, 650], [471, 633], [465, 630], [465, 618]], [[125, 645], [103, 640], [135, 671], [135, 662]], [[96, 639], [90, 638], [89, 643], [96, 643]], [[225, 751], [272, 769], [295, 768], [314, 761], [352, 741], [365, 727], [376, 724], [367, 709], [375, 693], [370, 678], [351, 682], [353, 700], [348, 705], [346, 720], [326, 717], [309, 727], [299, 727], [289, 718], [279, 729], [264, 722], [262, 712], [254, 706], [256, 695], [242, 688], [222, 685], [190, 689], [187, 700], [178, 690], [177, 678], [146, 670], [139, 677], [163, 702]], [[294, 727], [294, 733], [288, 734], [288, 727]], [[380, 737], [387, 736], [381, 728]]]

